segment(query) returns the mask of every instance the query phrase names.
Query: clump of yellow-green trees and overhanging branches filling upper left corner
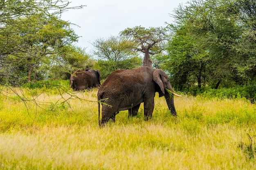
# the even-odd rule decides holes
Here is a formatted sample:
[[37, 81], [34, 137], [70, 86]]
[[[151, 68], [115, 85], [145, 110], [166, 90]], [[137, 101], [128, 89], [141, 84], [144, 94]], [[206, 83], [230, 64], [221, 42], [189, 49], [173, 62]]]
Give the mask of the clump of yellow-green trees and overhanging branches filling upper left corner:
[[33, 71], [35, 79], [39, 66], [54, 62], [63, 46], [77, 41], [70, 22], [59, 17], [64, 11], [83, 6], [68, 5], [61, 0], [0, 2], [0, 73], [6, 78], [1, 84], [8, 84], [12, 75], [18, 80], [12, 82], [23, 82], [15, 72], [20, 66], [27, 73], [26, 81], [31, 81]]

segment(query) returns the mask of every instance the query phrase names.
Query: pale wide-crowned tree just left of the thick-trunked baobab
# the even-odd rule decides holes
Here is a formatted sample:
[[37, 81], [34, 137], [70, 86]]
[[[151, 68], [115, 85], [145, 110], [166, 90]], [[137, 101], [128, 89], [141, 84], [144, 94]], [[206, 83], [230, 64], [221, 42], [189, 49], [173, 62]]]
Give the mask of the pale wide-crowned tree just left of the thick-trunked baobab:
[[141, 60], [132, 49], [135, 43], [121, 36], [99, 38], [92, 43], [94, 55], [98, 57], [97, 68], [101, 70], [102, 79], [117, 69], [138, 67]]

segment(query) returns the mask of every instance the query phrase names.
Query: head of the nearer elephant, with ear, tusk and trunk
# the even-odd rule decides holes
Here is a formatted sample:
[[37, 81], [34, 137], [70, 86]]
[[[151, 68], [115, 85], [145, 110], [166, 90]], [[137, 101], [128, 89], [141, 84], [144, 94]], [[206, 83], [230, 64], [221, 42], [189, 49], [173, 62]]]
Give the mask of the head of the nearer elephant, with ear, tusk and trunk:
[[153, 80], [159, 86], [156, 87], [156, 91], [159, 93], [159, 97], [165, 97], [169, 110], [171, 110], [173, 116], [176, 116], [177, 113], [174, 107], [173, 95], [178, 97], [181, 96], [174, 93], [168, 75], [166, 75], [166, 73], [160, 69], [155, 69], [153, 72]]

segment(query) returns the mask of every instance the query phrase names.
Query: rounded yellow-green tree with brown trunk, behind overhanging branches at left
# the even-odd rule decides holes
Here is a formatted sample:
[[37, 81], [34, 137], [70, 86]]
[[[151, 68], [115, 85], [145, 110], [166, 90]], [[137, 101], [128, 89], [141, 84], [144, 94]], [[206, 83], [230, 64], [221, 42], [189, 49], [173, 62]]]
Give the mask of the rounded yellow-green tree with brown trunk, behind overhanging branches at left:
[[[72, 46], [72, 42], [76, 41], [78, 36], [69, 28], [69, 23], [58, 20], [55, 17], [49, 19], [40, 20], [39, 17], [34, 17], [33, 22], [28, 26], [29, 29], [25, 29], [22, 32], [24, 38], [24, 52], [27, 55], [26, 60], [22, 58], [22, 62], [28, 68], [28, 81], [31, 81], [31, 75], [34, 71], [34, 80], [36, 72], [40, 66], [46, 63], [58, 63], [63, 65], [64, 63], [58, 60], [59, 58], [65, 59], [64, 49], [68, 46]], [[30, 18], [28, 20], [31, 21]], [[17, 53], [17, 55], [22, 55]], [[49, 60], [47, 62], [47, 60]], [[66, 63], [67, 65], [69, 63]], [[65, 67], [63, 67], [65, 68]]]

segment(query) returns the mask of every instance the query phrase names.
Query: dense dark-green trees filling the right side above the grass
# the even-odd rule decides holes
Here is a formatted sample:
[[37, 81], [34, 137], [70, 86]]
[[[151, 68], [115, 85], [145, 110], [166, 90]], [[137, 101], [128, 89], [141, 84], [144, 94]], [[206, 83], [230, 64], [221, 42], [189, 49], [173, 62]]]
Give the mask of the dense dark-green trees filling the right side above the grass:
[[174, 88], [229, 88], [253, 81], [255, 11], [254, 0], [192, 0], [177, 8], [164, 64]]

